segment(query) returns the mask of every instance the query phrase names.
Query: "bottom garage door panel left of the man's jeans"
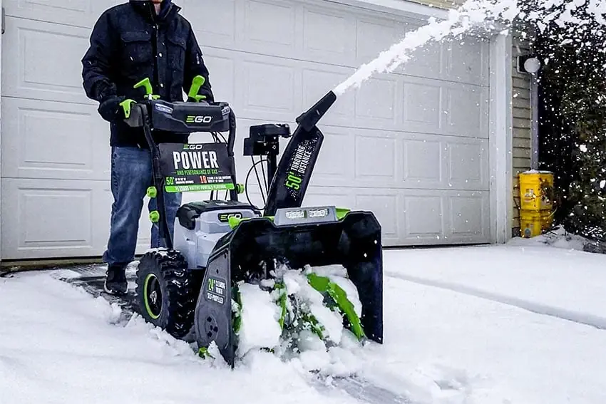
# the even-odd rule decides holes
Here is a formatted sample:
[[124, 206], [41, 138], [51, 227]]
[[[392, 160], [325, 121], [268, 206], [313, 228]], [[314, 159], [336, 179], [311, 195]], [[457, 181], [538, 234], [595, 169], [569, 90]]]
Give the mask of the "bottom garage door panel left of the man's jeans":
[[11, 195], [1, 205], [3, 257], [99, 253], [103, 182], [3, 178], [1, 187], [2, 195]]

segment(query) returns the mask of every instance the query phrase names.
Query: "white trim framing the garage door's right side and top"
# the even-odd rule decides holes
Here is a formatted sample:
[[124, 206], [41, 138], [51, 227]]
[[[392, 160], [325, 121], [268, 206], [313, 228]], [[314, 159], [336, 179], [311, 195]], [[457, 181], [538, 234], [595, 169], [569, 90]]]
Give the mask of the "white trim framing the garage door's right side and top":
[[[372, 11], [386, 12], [411, 18], [427, 19], [446, 17], [446, 11], [403, 0], [325, 0], [336, 4], [360, 7]], [[2, 0], [0, 0], [2, 6]], [[412, 15], [411, 15], [412, 14]], [[512, 159], [513, 135], [511, 131], [511, 37], [510, 34], [490, 34], [490, 221], [491, 242], [503, 243], [511, 237], [512, 220]], [[1, 55], [1, 43], [0, 43]], [[1, 68], [1, 58], [0, 58]], [[1, 95], [1, 83], [0, 83]], [[2, 123], [0, 117], [0, 123]], [[0, 145], [1, 147], [1, 145]], [[1, 165], [0, 165], [1, 167]], [[1, 175], [1, 172], [0, 172]], [[0, 195], [1, 204], [1, 195]], [[1, 222], [1, 217], [0, 217]], [[0, 239], [3, 229], [0, 225]], [[0, 255], [0, 261], [3, 257]]]

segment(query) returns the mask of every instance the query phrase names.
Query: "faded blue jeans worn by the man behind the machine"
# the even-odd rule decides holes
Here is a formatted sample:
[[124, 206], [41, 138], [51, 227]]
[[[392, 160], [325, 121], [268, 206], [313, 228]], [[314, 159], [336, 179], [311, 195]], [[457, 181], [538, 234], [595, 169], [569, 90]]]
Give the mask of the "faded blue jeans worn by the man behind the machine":
[[[128, 264], [135, 259], [143, 199], [151, 185], [153, 173], [149, 150], [138, 147], [112, 147], [111, 192], [114, 202], [111, 206], [108, 248], [103, 254], [103, 261], [107, 264]], [[168, 228], [170, 237], [173, 237], [181, 194], [164, 192], [164, 195]], [[155, 198], [150, 198], [148, 209], [150, 212], [157, 209]], [[160, 240], [158, 225], [152, 224], [150, 248], [158, 247], [165, 245]]]

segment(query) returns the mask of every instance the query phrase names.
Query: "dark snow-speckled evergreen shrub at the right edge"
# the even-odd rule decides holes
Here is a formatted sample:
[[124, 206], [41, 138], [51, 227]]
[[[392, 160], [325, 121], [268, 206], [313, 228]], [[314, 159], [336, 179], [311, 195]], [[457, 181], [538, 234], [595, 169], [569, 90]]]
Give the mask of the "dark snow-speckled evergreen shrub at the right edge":
[[606, 53], [602, 31], [545, 29], [540, 74], [540, 160], [555, 174], [556, 222], [606, 239]]

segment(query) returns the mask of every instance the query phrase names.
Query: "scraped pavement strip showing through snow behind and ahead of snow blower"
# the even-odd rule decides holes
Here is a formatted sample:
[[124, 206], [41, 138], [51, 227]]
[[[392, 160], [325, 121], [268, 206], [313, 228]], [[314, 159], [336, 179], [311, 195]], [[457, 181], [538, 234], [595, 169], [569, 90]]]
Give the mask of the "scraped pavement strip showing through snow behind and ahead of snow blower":
[[[126, 323], [133, 314], [140, 314], [136, 303], [134, 289], [136, 263], [131, 264], [126, 271], [128, 280], [128, 292], [123, 296], [112, 296], [103, 289], [106, 267], [101, 265], [70, 266], [62, 268], [57, 272], [56, 279], [67, 282], [73, 286], [81, 287], [93, 297], [102, 296], [110, 304], [117, 304], [122, 309], [122, 317], [119, 323]], [[189, 339], [189, 338], [186, 338]], [[349, 395], [361, 403], [368, 404], [414, 404], [408, 398], [394, 393], [369, 380], [361, 379], [355, 375], [348, 377], [332, 377], [327, 383], [327, 378], [322, 375], [312, 375], [309, 381], [312, 388], [320, 392], [337, 390]]]

